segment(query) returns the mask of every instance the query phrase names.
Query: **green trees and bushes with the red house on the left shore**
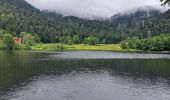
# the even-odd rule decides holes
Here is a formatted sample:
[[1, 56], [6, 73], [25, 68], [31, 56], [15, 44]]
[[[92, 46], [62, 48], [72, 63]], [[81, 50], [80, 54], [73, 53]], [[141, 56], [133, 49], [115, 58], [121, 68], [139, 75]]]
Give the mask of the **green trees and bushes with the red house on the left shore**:
[[21, 32], [17, 37], [13, 34], [0, 30], [0, 50], [29, 50], [35, 43], [40, 42], [37, 34]]

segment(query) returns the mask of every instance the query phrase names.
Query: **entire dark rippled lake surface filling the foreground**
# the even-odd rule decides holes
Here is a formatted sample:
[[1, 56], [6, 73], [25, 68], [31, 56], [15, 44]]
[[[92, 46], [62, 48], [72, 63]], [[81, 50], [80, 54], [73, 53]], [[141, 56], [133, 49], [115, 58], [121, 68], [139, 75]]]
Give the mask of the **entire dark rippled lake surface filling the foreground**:
[[0, 51], [0, 100], [170, 100], [169, 58]]

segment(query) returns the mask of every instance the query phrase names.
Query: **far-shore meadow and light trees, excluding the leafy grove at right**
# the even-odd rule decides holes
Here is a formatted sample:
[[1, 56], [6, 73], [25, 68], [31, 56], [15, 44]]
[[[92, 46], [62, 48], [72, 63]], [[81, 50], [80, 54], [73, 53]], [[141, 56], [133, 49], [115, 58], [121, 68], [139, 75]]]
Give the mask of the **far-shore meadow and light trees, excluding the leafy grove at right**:
[[[14, 33], [0, 30], [0, 50], [38, 50], [38, 51], [64, 51], [64, 50], [98, 50], [98, 51], [132, 51], [122, 49], [119, 44], [100, 44], [97, 37], [90, 36], [80, 42], [78, 35], [60, 37], [58, 43], [44, 44], [37, 34], [21, 32], [14, 37]], [[20, 39], [19, 43], [15, 38]]]

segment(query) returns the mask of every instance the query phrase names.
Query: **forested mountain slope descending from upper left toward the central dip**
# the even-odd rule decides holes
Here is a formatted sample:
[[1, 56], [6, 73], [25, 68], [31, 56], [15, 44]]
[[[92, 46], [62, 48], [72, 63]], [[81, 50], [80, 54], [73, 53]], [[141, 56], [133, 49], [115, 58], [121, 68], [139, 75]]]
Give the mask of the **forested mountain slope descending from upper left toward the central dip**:
[[[37, 33], [43, 42], [54, 42], [56, 36], [78, 34], [85, 36], [109, 33], [108, 25], [76, 17], [63, 17], [40, 12], [23, 0], [0, 0], [0, 27], [19, 34], [22, 31]], [[105, 24], [105, 25], [103, 25]]]

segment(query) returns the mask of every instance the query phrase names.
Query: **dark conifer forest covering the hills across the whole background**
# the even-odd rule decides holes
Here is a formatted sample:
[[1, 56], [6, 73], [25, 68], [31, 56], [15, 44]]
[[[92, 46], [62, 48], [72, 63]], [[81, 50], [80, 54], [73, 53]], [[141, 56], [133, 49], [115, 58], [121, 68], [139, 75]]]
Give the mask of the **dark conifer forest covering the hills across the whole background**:
[[88, 37], [96, 37], [100, 43], [118, 43], [132, 36], [143, 39], [168, 34], [169, 27], [170, 10], [165, 13], [152, 10], [117, 14], [109, 20], [98, 21], [40, 11], [24, 0], [0, 0], [2, 30], [18, 37], [21, 32], [38, 34], [44, 43], [77, 36], [80, 43]]

